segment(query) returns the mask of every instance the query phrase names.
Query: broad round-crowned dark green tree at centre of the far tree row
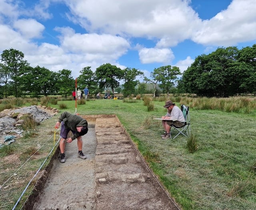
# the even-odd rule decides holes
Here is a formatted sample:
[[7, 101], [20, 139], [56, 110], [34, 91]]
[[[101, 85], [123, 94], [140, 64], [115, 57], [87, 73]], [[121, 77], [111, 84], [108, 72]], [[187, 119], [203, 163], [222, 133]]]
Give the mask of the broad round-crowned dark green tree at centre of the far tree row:
[[124, 71], [120, 68], [113, 66], [109, 63], [102, 64], [100, 67], [96, 68], [95, 71], [96, 78], [100, 88], [111, 88], [114, 94], [114, 88], [118, 88], [120, 82], [118, 80], [123, 79]]

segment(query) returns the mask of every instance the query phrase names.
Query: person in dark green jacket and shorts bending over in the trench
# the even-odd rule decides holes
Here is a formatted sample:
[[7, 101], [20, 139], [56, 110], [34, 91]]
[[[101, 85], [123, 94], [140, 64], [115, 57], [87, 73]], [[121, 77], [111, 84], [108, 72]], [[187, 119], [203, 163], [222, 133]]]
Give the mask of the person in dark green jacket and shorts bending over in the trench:
[[[59, 128], [60, 124], [60, 162], [66, 162], [66, 157], [64, 153], [66, 142], [71, 143], [76, 138], [78, 146], [78, 158], [86, 159], [86, 156], [82, 152], [82, 136], [84, 136], [84, 134], [87, 134], [88, 132], [88, 122], [81, 116], [70, 114], [68, 112], [63, 112], [60, 115], [58, 122], [56, 122], [55, 128]], [[73, 133], [73, 136], [71, 138], [68, 138], [68, 132], [70, 131]]]

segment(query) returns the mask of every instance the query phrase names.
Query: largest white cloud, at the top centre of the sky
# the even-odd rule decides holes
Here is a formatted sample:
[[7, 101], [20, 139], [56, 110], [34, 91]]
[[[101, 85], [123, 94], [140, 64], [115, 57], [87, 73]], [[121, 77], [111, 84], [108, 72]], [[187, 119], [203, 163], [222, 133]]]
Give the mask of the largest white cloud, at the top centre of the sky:
[[[73, 20], [90, 32], [165, 37], [170, 41], [168, 46], [189, 38], [201, 22], [188, 2], [181, 0], [66, 0], [66, 4]], [[170, 34], [173, 41], [167, 38]]]

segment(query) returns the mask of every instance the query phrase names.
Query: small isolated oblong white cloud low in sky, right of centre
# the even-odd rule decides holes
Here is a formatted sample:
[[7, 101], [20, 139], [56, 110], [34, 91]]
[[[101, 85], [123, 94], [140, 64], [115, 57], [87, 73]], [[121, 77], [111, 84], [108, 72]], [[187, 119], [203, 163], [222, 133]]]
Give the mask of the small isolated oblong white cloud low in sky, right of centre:
[[140, 61], [143, 64], [159, 62], [170, 63], [174, 59], [172, 50], [164, 48], [142, 48], [139, 50]]

